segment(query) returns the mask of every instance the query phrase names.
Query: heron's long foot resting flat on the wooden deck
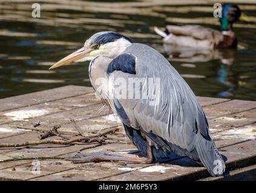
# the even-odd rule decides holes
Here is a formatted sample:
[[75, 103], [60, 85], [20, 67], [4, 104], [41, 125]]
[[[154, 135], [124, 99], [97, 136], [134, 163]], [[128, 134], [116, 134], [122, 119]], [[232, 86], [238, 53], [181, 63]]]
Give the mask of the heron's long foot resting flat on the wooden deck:
[[98, 151], [93, 153], [77, 153], [74, 157], [67, 157], [72, 163], [121, 161], [131, 163], [152, 163], [152, 156], [138, 156], [136, 154], [118, 153], [114, 151]]

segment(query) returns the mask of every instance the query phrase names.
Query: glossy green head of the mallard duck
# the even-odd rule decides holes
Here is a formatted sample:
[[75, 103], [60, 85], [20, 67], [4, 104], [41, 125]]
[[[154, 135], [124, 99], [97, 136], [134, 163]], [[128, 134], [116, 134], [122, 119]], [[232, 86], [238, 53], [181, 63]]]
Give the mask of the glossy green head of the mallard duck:
[[222, 31], [232, 30], [232, 24], [239, 20], [241, 10], [237, 5], [226, 4], [222, 8], [222, 17], [220, 17], [220, 28]]

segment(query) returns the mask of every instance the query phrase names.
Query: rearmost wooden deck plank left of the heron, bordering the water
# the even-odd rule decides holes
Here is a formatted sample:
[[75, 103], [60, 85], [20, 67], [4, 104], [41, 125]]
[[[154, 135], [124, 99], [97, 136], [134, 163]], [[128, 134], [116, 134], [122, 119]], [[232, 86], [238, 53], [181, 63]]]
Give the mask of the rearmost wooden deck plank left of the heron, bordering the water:
[[0, 100], [0, 111], [17, 109], [20, 107], [31, 106], [34, 104], [46, 103], [49, 101], [60, 100], [71, 96], [83, 95], [90, 92], [94, 92], [91, 87], [70, 85], [58, 87], [56, 89], [28, 93], [25, 95], [12, 96]]

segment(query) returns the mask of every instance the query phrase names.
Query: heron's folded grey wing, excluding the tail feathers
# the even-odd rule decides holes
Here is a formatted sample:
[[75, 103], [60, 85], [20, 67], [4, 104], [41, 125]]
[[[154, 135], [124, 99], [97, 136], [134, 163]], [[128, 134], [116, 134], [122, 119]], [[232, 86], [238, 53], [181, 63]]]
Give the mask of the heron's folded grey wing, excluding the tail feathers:
[[[195, 135], [200, 132], [203, 136], [209, 136], [209, 129], [202, 107], [188, 84], [156, 50], [133, 44], [125, 52], [136, 57], [136, 74], [113, 71], [110, 78], [113, 78], [113, 82], [120, 77], [126, 80], [126, 98], [116, 96], [116, 100], [128, 116], [131, 126], [142, 127], [192, 151]], [[131, 81], [141, 84], [133, 84], [131, 89]], [[135, 96], [131, 92], [138, 90], [140, 98], [131, 98]]]

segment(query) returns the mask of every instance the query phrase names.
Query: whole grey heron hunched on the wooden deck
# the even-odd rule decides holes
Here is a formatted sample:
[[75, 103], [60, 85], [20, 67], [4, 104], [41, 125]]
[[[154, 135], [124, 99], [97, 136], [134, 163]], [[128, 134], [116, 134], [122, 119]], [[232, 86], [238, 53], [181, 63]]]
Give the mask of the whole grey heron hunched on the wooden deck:
[[[151, 163], [176, 153], [202, 163], [212, 176], [223, 174], [225, 162], [214, 144], [202, 107], [185, 80], [162, 54], [150, 46], [132, 43], [122, 34], [103, 31], [91, 36], [82, 48], [50, 69], [87, 60], [91, 60], [89, 75], [94, 90], [119, 116], [126, 135], [141, 156], [102, 151], [80, 154], [82, 162]], [[120, 86], [116, 84], [120, 78], [140, 83]], [[148, 84], [149, 78], [151, 84]], [[101, 79], [102, 84], [107, 84], [102, 86]], [[125, 94], [120, 97], [117, 89]], [[134, 97], [135, 92], [128, 97], [134, 91], [131, 89], [139, 90], [139, 97]], [[145, 97], [140, 97], [142, 95]]]

